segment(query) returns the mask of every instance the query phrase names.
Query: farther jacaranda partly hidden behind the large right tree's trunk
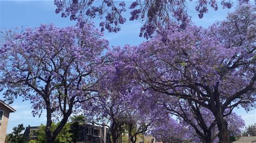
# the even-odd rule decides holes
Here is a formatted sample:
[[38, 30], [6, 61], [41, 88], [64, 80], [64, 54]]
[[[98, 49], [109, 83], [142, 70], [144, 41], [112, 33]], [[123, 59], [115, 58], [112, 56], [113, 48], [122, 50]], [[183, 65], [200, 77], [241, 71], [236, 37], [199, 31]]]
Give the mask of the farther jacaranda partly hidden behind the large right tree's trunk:
[[[152, 96], [157, 95], [159, 93]], [[187, 136], [190, 136], [191, 139], [197, 142], [214, 142], [217, 140], [219, 133], [217, 122], [212, 112], [207, 108], [187, 99], [165, 96], [164, 94], [158, 96], [157, 101], [164, 108], [159, 109], [160, 111], [176, 116], [182, 126], [189, 128]], [[232, 112], [231, 115], [225, 117], [225, 120], [228, 123], [228, 134], [241, 133], [241, 128], [245, 125], [241, 117]]]

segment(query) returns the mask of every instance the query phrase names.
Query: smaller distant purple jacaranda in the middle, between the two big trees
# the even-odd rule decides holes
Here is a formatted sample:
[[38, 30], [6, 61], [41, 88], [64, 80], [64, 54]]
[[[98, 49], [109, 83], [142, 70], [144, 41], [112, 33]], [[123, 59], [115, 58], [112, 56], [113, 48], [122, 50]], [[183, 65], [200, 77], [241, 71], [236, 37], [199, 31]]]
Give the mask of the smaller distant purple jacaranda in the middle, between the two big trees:
[[123, 69], [126, 65], [125, 62], [119, 62], [119, 54], [110, 51], [106, 55], [112, 62], [102, 69], [107, 71], [107, 74], [98, 84], [99, 97], [84, 103], [82, 109], [90, 121], [98, 125], [109, 123], [104, 126], [109, 127], [112, 142], [119, 142], [125, 125], [129, 123], [134, 127], [143, 120], [140, 117], [144, 114], [139, 109], [144, 108], [137, 105], [137, 99], [140, 99], [139, 95], [143, 90], [129, 83], [129, 77], [125, 76], [129, 69]]

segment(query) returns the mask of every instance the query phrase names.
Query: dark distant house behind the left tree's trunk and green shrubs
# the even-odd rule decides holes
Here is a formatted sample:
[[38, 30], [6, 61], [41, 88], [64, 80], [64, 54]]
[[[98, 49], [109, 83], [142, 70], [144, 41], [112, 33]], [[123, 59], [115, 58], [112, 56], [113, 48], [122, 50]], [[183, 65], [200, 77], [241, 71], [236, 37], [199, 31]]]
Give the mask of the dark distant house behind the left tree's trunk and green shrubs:
[[[24, 131], [24, 136], [28, 140], [37, 139], [36, 131], [39, 130], [38, 126], [28, 126]], [[80, 135], [77, 143], [110, 143], [109, 130], [106, 126], [95, 125], [80, 125]]]

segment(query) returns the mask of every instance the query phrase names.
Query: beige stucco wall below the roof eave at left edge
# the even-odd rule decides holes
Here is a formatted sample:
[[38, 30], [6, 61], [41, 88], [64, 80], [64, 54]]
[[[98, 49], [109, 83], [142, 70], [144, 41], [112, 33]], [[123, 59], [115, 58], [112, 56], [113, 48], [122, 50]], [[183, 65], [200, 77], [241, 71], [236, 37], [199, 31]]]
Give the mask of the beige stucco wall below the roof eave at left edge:
[[6, 108], [6, 106], [0, 103], [0, 110], [4, 111], [3, 121], [0, 121], [0, 142], [2, 143], [6, 137], [6, 129], [8, 125], [10, 109]]

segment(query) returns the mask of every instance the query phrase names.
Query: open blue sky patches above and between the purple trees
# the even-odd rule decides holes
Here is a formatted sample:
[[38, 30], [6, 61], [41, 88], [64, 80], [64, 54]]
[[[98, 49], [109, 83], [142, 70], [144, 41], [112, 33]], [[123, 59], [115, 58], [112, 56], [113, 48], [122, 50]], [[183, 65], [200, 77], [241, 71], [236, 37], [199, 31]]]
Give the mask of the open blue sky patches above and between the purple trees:
[[[128, 1], [127, 3], [131, 3]], [[220, 3], [220, 2], [219, 2]], [[208, 27], [217, 20], [223, 20], [227, 16], [227, 13], [233, 11], [234, 8], [221, 9], [207, 13], [203, 19], [198, 18], [198, 14], [194, 10], [194, 2], [188, 3], [189, 14], [192, 16], [192, 20], [196, 25]], [[219, 6], [221, 7], [221, 6]], [[234, 6], [235, 7], [235, 6]], [[129, 12], [125, 13], [126, 19], [129, 19]], [[98, 20], [93, 20], [98, 27]], [[0, 0], [0, 30], [8, 30], [11, 27], [29, 26], [36, 27], [40, 24], [53, 23], [56, 26], [64, 27], [75, 25], [75, 22], [71, 22], [69, 18], [61, 18], [60, 15], [55, 14], [55, 5], [52, 1], [2, 1]], [[127, 21], [122, 25], [122, 30], [118, 33], [104, 33], [104, 38], [110, 41], [110, 46], [123, 46], [127, 43], [130, 45], [138, 45], [146, 39], [140, 38], [139, 30], [142, 24], [139, 22]], [[3, 99], [0, 92], [0, 99]], [[15, 113], [11, 113], [9, 117], [8, 130], [10, 133], [14, 126], [23, 123], [24, 126], [37, 126], [46, 123], [46, 114], [43, 113], [41, 118], [32, 117], [31, 104], [29, 101], [22, 102], [21, 98], [18, 98], [12, 105], [17, 110]], [[244, 109], [235, 109], [235, 112], [245, 120], [246, 126], [256, 123], [256, 110], [247, 112]]]

